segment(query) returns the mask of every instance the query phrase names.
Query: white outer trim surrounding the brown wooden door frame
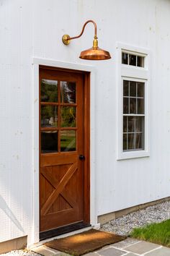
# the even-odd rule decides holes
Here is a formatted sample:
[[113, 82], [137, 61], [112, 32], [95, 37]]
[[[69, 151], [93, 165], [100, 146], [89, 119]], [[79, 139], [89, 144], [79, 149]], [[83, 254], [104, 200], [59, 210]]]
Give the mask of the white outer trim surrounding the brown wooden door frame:
[[89, 65], [70, 62], [55, 61], [53, 59], [32, 58], [32, 176], [33, 176], [33, 220], [32, 237], [28, 238], [29, 244], [39, 242], [39, 66], [60, 67], [90, 72], [90, 219], [91, 226], [97, 224], [97, 207], [95, 202], [95, 69]]

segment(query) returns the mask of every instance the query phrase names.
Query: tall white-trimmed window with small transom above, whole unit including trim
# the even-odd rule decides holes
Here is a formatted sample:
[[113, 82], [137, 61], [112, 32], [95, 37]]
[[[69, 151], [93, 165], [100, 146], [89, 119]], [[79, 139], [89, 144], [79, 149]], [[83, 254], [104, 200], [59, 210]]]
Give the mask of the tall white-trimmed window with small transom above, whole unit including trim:
[[117, 159], [149, 155], [148, 51], [118, 44]]

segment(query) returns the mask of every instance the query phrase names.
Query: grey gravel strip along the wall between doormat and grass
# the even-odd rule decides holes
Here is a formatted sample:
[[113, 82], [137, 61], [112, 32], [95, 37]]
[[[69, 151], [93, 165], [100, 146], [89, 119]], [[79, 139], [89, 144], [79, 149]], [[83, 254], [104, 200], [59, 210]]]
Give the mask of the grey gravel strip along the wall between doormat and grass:
[[101, 230], [128, 236], [134, 228], [159, 223], [170, 219], [170, 201], [149, 206], [126, 216], [109, 221], [101, 226]]

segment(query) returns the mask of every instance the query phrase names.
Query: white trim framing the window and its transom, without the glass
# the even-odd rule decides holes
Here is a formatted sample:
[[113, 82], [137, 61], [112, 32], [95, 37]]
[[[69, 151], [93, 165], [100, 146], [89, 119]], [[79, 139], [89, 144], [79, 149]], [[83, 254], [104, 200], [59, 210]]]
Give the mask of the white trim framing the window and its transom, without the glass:
[[[122, 51], [131, 54], [145, 56], [145, 67], [135, 67], [122, 64]], [[150, 85], [150, 51], [146, 48], [129, 46], [124, 43], [117, 43], [117, 160], [129, 158], [143, 158], [150, 155], [150, 138], [149, 138], [149, 85]], [[122, 80], [132, 80], [145, 82], [145, 149], [144, 150], [122, 150], [122, 116], [123, 116], [123, 97], [122, 97]]]

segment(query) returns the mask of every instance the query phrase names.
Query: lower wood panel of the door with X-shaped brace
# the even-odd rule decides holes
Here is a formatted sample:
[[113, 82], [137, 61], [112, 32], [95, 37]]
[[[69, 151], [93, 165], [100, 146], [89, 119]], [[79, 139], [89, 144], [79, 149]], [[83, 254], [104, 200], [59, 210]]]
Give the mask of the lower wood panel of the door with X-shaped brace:
[[77, 162], [40, 168], [40, 231], [83, 220], [82, 179]]

